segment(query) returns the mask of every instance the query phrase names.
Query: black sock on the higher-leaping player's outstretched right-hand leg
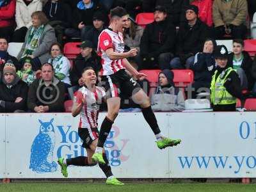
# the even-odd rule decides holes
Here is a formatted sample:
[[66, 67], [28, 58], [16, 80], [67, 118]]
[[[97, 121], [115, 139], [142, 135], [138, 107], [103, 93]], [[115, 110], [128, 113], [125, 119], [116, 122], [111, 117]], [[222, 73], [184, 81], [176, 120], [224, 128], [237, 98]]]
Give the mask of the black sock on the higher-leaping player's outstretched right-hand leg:
[[161, 131], [158, 127], [156, 116], [153, 113], [151, 106], [149, 106], [148, 108], [142, 108], [141, 112], [145, 120], [147, 121], [148, 125], [151, 127], [152, 131], [154, 132], [154, 134], [159, 134]]

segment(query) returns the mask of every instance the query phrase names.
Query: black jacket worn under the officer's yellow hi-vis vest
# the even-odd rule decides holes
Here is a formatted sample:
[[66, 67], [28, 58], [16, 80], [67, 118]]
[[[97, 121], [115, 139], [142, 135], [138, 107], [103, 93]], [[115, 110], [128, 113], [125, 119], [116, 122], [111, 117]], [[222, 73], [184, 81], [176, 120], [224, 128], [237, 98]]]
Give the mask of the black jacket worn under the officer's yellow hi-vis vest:
[[[217, 67], [218, 72], [215, 76], [215, 80], [217, 79], [218, 76], [220, 76], [221, 72], [226, 68], [223, 69], [223, 68]], [[230, 95], [242, 101], [244, 100], [244, 96], [241, 88], [241, 82], [236, 71], [233, 70], [232, 72], [230, 72], [230, 74], [227, 76], [227, 81], [224, 83], [224, 86], [227, 89], [227, 92], [230, 93]], [[236, 104], [214, 105], [213, 111], [236, 111]]]

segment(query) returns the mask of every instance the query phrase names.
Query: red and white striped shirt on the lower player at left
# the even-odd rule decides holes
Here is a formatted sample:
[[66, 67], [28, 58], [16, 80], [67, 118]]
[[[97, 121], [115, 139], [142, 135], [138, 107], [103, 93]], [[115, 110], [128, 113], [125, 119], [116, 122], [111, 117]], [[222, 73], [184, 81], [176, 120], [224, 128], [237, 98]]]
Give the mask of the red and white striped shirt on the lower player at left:
[[102, 99], [106, 96], [106, 92], [96, 86], [95, 92], [91, 92], [86, 87], [80, 88], [74, 95], [74, 100], [81, 100], [84, 97], [84, 106], [80, 112], [79, 128], [97, 128], [99, 108], [102, 103]]

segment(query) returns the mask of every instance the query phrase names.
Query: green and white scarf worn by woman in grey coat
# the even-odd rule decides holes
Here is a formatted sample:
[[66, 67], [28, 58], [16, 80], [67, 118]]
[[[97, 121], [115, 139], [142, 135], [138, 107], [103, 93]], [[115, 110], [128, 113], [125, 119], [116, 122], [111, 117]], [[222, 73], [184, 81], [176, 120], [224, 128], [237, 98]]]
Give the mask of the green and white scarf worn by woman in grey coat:
[[39, 45], [39, 38], [42, 35], [44, 31], [45, 26], [41, 25], [38, 28], [35, 28], [34, 26], [31, 28], [31, 31], [28, 36], [28, 42], [25, 47], [25, 51], [23, 52], [22, 58], [24, 56], [28, 56], [29, 54], [32, 54], [36, 48]]

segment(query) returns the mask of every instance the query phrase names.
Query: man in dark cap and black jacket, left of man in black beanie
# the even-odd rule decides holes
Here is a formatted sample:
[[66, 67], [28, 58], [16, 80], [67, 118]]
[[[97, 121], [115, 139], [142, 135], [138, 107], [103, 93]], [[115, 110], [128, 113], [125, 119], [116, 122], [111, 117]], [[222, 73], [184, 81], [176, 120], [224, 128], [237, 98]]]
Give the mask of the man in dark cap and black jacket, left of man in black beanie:
[[154, 22], [143, 31], [140, 42], [141, 68], [170, 68], [170, 60], [175, 47], [176, 29], [166, 20], [166, 9], [157, 6]]

